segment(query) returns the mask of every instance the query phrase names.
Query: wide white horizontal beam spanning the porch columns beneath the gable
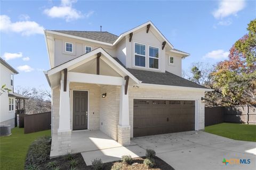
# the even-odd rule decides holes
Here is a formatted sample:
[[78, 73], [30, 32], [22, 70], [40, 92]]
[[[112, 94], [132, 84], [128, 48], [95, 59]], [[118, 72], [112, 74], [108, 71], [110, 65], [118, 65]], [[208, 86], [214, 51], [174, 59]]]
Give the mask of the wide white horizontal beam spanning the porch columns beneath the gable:
[[85, 74], [81, 72], [68, 72], [68, 81], [76, 83], [106, 84], [106, 85], [125, 85], [123, 77], [103, 76]]

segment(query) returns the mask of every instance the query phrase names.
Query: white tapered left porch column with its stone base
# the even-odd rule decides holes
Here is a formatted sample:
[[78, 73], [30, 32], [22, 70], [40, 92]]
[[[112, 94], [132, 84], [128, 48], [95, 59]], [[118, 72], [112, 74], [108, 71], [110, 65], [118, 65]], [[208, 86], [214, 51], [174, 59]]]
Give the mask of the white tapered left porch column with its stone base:
[[69, 99], [69, 82], [64, 91], [65, 80], [64, 72], [61, 73], [60, 80], [60, 112], [58, 128], [58, 147], [59, 155], [65, 155], [71, 152], [71, 129], [70, 129], [70, 99]]

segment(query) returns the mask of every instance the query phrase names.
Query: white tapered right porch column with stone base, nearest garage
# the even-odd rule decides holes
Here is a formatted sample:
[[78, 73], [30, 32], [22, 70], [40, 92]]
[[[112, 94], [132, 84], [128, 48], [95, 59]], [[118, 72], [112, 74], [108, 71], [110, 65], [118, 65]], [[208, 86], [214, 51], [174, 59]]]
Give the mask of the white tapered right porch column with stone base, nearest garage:
[[125, 85], [121, 86], [118, 143], [130, 145], [129, 94], [125, 94]]

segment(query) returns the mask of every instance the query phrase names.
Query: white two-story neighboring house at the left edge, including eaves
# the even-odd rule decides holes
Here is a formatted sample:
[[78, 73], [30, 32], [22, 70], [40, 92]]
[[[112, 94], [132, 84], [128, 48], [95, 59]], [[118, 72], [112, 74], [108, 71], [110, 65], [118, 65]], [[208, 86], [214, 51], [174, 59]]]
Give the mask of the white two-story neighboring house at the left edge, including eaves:
[[15, 99], [16, 95], [13, 93], [14, 89], [14, 75], [19, 74], [6, 61], [0, 58], [0, 85], [6, 85], [6, 88], [12, 90], [11, 92], [3, 92], [0, 95], [0, 125], [15, 126]]

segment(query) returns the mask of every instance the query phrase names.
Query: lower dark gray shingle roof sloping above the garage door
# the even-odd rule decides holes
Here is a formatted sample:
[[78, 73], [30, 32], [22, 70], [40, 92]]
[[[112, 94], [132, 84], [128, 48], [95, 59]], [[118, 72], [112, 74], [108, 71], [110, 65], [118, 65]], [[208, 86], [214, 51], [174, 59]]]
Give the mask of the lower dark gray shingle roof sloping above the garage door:
[[[117, 58], [114, 58], [118, 63], [120, 63], [124, 68], [124, 64], [119, 61]], [[147, 84], [159, 84], [159, 85], [169, 85], [169, 86], [182, 86], [182, 87], [195, 87], [195, 88], [205, 88], [207, 87], [191, 82], [185, 78], [174, 75], [171, 72], [156, 72], [156, 71], [147, 71], [139, 69], [125, 68], [133, 76], [138, 78], [142, 83]]]

